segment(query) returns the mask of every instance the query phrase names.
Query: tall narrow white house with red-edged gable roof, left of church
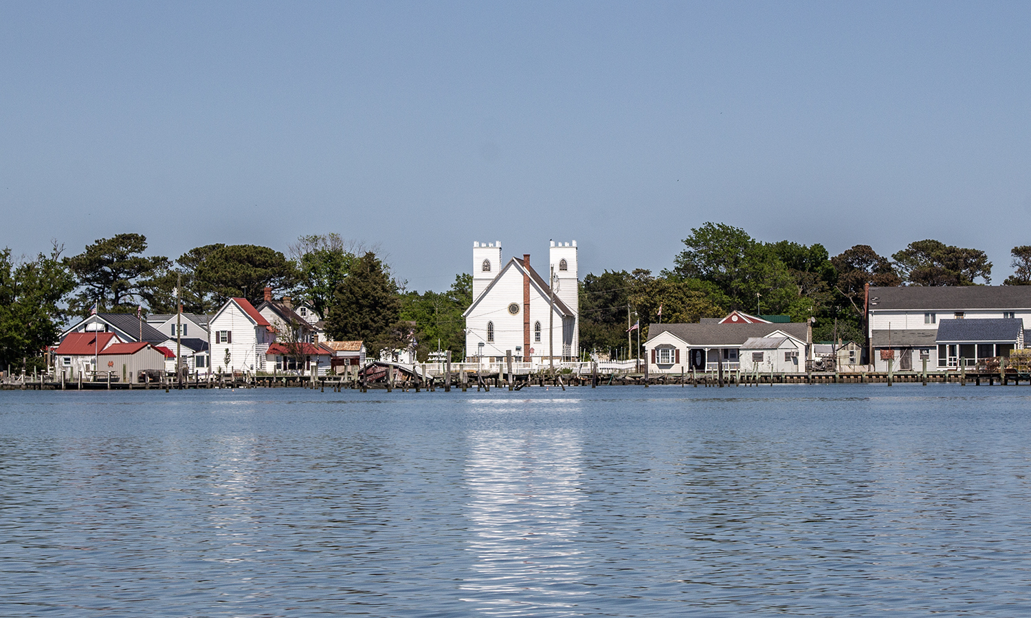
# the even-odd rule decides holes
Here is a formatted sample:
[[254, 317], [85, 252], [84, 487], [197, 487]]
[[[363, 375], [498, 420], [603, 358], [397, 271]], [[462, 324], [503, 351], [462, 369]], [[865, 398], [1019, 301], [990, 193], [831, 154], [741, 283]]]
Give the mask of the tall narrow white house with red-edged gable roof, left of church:
[[275, 341], [272, 324], [246, 299], [232, 298], [211, 316], [211, 367], [215, 371], [264, 371]]

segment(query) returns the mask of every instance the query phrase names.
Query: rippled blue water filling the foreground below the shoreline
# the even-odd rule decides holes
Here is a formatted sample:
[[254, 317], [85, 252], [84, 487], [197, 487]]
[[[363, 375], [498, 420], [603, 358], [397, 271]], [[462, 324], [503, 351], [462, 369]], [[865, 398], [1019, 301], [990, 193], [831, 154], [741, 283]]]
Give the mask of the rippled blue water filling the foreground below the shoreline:
[[0, 615], [1027, 616], [1029, 410], [943, 384], [0, 392]]

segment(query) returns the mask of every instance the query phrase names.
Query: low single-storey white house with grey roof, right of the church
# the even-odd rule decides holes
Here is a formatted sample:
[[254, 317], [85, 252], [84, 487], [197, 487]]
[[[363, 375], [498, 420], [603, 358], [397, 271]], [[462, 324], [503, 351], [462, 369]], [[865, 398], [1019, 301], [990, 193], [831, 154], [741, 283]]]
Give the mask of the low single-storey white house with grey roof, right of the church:
[[[758, 347], [745, 348], [750, 341]], [[764, 363], [770, 359], [768, 353], [780, 355], [783, 360], [774, 369], [777, 373], [804, 372], [805, 360], [811, 358], [811, 341], [812, 331], [806, 322], [653, 323], [644, 350], [650, 373], [717, 371], [721, 360], [724, 371], [752, 371], [758, 357], [753, 354], [760, 352]], [[775, 347], [762, 347], [774, 343]]]

